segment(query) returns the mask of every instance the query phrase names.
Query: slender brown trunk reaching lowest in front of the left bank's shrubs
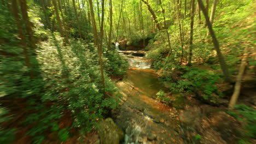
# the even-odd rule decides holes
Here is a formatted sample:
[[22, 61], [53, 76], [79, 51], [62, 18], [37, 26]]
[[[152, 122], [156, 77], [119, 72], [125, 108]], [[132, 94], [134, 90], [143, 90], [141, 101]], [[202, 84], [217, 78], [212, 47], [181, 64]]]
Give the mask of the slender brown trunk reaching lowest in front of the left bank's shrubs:
[[94, 39], [95, 39], [95, 44], [98, 48], [98, 57], [100, 61], [100, 67], [101, 67], [101, 79], [102, 79], [102, 90], [104, 94], [104, 98], [106, 97], [106, 92], [105, 92], [105, 79], [104, 79], [104, 72], [103, 72], [103, 62], [102, 62], [102, 51], [100, 47], [100, 41], [98, 40], [98, 33], [97, 33], [97, 26], [96, 26], [96, 21], [95, 21], [95, 16], [94, 16], [94, 8], [92, 6], [92, 0], [89, 0], [90, 4], [90, 10], [91, 10], [91, 20], [92, 20], [92, 26], [94, 28]]

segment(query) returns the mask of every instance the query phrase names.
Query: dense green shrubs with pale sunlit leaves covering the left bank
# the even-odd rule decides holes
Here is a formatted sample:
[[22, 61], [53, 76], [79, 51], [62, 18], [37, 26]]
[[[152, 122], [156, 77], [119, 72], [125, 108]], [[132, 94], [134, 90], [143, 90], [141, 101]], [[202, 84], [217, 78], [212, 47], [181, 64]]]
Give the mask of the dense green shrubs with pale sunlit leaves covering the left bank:
[[[61, 141], [66, 141], [71, 128], [79, 128], [85, 134], [92, 130], [96, 119], [103, 118], [119, 105], [121, 94], [107, 74], [125, 74], [127, 62], [118, 53], [103, 55], [105, 91], [111, 94], [104, 98], [98, 53], [94, 43], [90, 43], [93, 39], [88, 37], [89, 43], [84, 43], [70, 38], [71, 44], [64, 46], [59, 33], [45, 29], [40, 18], [42, 9], [37, 4], [32, 5], [28, 15], [34, 26], [37, 49], [28, 53], [32, 67], [27, 67], [14, 25], [16, 21], [8, 7], [0, 4], [0, 97], [26, 100], [24, 109], [30, 114], [26, 115], [22, 125], [33, 125], [26, 131], [33, 143], [42, 143], [50, 129], [57, 131]], [[33, 78], [30, 73], [34, 74]], [[1, 116], [6, 115], [4, 111], [1, 108]], [[73, 123], [60, 129], [60, 121], [68, 112], [71, 112]], [[1, 117], [1, 123], [6, 119]], [[0, 127], [0, 135], [0, 143], [9, 143], [14, 140], [15, 131]]]

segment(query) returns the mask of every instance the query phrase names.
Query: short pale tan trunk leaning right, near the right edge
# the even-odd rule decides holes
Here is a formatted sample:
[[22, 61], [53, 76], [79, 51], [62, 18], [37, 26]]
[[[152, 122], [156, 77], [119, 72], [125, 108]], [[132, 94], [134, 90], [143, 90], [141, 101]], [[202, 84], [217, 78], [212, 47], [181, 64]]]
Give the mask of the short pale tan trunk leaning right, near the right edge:
[[242, 80], [242, 76], [243, 76], [243, 73], [244, 73], [246, 65], [247, 65], [247, 57], [248, 57], [248, 53], [247, 53], [247, 47], [246, 47], [244, 50], [244, 53], [243, 53], [243, 58], [241, 60], [241, 66], [240, 66], [238, 75], [236, 77], [234, 93], [232, 94], [231, 100], [229, 102], [229, 109], [234, 109], [236, 101], [239, 97], [240, 90], [241, 90], [241, 80]]

